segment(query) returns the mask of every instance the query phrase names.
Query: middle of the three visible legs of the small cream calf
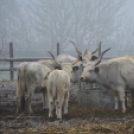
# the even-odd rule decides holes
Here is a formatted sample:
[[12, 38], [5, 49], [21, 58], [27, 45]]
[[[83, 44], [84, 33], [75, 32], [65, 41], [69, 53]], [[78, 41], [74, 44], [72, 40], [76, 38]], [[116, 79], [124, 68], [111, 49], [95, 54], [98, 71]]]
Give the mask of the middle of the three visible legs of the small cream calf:
[[62, 105], [63, 105], [64, 97], [58, 96], [56, 100], [56, 115], [57, 119], [62, 120]]

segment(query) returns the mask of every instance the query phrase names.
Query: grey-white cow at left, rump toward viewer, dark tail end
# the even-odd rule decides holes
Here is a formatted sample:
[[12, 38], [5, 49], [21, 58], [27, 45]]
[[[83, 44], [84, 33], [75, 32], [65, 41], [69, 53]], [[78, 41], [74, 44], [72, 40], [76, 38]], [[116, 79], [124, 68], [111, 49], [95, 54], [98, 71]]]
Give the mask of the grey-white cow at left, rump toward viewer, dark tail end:
[[31, 99], [34, 93], [43, 93], [43, 108], [46, 108], [46, 88], [42, 87], [42, 81], [48, 71], [54, 70], [57, 63], [53, 60], [38, 61], [38, 62], [24, 62], [21, 63], [17, 69], [17, 113], [23, 107], [24, 110], [24, 96], [27, 94], [28, 112], [32, 113]]

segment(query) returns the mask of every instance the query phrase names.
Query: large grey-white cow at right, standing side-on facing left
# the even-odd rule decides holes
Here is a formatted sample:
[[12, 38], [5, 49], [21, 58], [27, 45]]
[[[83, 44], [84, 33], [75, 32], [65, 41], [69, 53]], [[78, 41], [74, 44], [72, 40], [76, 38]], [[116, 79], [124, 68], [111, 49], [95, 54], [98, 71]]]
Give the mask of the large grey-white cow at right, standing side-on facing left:
[[97, 82], [105, 88], [113, 90], [115, 109], [119, 109], [121, 102], [122, 111], [126, 111], [125, 89], [134, 88], [134, 58], [125, 56], [110, 59], [101, 63], [101, 57], [96, 63], [89, 62], [84, 67], [81, 81]]

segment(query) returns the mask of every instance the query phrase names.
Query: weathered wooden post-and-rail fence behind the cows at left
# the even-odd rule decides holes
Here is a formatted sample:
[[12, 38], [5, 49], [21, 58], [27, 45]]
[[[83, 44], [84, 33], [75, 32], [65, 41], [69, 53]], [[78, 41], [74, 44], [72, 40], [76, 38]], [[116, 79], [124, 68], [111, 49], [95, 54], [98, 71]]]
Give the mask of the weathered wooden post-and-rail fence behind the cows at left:
[[[57, 55], [60, 53], [60, 44], [57, 43]], [[13, 43], [9, 44], [9, 58], [0, 58], [0, 61], [9, 62], [10, 68], [0, 68], [0, 71], [10, 71], [10, 80], [14, 79], [14, 71], [17, 68], [14, 67], [14, 62], [25, 62], [25, 61], [37, 61], [42, 59], [51, 59], [51, 57], [39, 57], [39, 58], [14, 58], [13, 56]]]

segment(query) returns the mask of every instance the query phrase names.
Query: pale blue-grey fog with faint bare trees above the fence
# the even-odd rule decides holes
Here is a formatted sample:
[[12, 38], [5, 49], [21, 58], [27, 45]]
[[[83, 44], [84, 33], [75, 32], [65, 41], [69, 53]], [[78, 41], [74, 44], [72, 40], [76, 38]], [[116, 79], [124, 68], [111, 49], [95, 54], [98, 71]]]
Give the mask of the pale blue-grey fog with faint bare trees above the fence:
[[[77, 56], [81, 51], [111, 47], [106, 57], [134, 56], [133, 0], [0, 0], [0, 58], [50, 57], [60, 53]], [[1, 62], [0, 67], [6, 67]], [[6, 79], [9, 72], [0, 72]]]

